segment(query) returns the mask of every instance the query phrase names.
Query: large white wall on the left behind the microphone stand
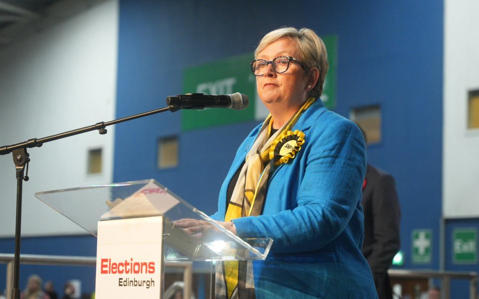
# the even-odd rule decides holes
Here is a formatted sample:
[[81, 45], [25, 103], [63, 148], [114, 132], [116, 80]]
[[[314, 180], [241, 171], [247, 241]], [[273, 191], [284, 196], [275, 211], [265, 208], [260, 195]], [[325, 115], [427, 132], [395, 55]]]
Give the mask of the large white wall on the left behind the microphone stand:
[[[101, 1], [0, 51], [0, 146], [114, 119], [117, 0]], [[84, 231], [36, 199], [36, 191], [110, 183], [113, 127], [28, 149], [22, 236]], [[103, 149], [103, 172], [87, 174], [88, 149]], [[0, 237], [14, 235], [15, 170], [0, 156]], [[65, 200], [67, 200], [65, 198]]]

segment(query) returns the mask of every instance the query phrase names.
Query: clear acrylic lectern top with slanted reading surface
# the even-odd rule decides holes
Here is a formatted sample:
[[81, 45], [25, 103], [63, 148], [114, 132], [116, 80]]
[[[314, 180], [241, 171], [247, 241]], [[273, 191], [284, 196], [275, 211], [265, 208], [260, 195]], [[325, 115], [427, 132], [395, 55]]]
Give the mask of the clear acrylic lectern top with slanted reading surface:
[[[272, 240], [240, 239], [205, 213], [153, 179], [37, 192], [35, 196], [97, 236], [99, 221], [163, 216], [163, 259], [172, 261], [264, 260]], [[201, 220], [209, 232], [201, 237], [175, 225]]]

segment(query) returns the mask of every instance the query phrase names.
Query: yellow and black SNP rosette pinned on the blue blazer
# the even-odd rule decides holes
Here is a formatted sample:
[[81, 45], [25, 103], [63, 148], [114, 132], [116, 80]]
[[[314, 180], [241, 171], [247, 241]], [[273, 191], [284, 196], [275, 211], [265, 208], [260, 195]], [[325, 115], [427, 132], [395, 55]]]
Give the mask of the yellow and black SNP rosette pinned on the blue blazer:
[[274, 165], [287, 163], [304, 144], [304, 133], [298, 130], [281, 133], [269, 148], [269, 159]]

